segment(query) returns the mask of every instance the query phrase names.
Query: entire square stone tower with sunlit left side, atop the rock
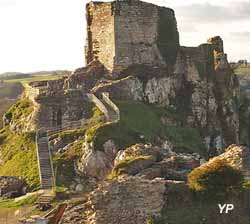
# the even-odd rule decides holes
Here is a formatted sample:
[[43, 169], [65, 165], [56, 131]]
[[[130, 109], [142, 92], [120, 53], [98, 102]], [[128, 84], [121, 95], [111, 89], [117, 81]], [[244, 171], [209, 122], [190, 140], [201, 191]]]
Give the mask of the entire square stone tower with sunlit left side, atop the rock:
[[86, 62], [98, 59], [120, 72], [133, 64], [164, 66], [176, 59], [179, 33], [174, 11], [139, 0], [86, 6]]

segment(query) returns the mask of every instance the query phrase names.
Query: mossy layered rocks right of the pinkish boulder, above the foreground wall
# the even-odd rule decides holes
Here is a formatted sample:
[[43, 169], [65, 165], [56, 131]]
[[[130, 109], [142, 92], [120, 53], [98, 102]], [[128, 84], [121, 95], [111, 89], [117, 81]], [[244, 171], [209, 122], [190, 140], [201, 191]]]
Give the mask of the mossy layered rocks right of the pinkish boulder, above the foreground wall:
[[136, 144], [119, 151], [113, 172], [145, 179], [186, 180], [187, 174], [200, 165], [198, 154], [175, 153], [157, 146]]

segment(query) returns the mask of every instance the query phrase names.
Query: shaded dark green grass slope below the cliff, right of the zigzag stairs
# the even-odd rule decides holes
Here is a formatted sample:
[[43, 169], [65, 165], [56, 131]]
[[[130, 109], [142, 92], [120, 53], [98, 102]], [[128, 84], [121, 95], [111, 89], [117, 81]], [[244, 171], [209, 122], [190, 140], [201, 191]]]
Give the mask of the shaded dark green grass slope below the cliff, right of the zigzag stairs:
[[162, 125], [160, 115], [175, 117], [174, 114], [167, 113], [166, 109], [139, 102], [117, 102], [117, 105], [121, 111], [119, 123], [87, 131], [89, 140], [94, 141], [97, 149], [101, 149], [108, 139], [113, 139], [119, 149], [124, 149], [138, 142], [154, 142], [160, 136], [171, 140], [176, 149], [204, 153], [198, 130]]

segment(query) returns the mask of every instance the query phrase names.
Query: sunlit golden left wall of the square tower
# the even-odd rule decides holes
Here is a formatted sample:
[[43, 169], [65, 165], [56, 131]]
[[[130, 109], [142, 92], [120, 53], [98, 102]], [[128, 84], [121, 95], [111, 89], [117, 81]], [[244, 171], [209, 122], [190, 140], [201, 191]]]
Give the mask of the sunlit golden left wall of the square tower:
[[113, 70], [115, 57], [113, 3], [90, 2], [87, 12], [86, 62], [98, 59]]

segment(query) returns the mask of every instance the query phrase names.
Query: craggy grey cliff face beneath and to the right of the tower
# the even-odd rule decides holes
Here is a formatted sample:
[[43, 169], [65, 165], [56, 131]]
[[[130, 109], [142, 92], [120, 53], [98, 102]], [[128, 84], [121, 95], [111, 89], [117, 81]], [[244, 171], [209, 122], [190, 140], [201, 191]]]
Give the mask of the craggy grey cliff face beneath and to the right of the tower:
[[182, 126], [200, 130], [210, 155], [221, 153], [225, 146], [239, 142], [240, 92], [227, 60], [215, 60], [214, 48], [213, 43], [181, 47], [170, 69], [131, 66], [122, 73], [127, 78], [92, 90], [97, 95], [107, 91], [117, 100], [175, 108], [183, 118]]

